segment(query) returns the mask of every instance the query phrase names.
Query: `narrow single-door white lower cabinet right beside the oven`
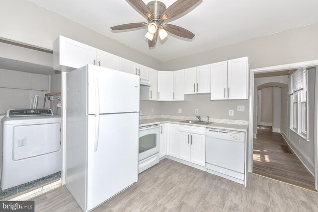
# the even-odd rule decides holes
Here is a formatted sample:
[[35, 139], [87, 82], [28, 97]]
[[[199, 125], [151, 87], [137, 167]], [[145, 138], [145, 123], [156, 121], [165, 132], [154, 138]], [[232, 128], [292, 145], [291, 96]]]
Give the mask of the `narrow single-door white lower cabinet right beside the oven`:
[[177, 157], [178, 155], [178, 125], [167, 124], [167, 155]]

